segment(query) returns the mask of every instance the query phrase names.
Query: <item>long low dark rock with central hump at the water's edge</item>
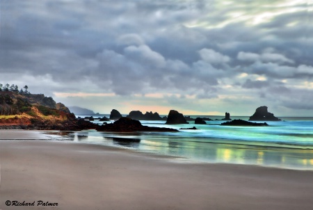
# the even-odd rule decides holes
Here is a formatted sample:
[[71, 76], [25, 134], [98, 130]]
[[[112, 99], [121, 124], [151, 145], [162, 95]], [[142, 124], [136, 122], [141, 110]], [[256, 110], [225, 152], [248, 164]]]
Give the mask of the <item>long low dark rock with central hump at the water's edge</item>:
[[138, 120], [131, 120], [131, 118], [122, 117], [119, 120], [104, 124], [97, 129], [97, 131], [110, 131], [110, 132], [134, 132], [134, 131], [159, 131], [169, 132], [177, 131], [176, 129], [159, 128], [159, 127], [147, 127], [143, 126]]

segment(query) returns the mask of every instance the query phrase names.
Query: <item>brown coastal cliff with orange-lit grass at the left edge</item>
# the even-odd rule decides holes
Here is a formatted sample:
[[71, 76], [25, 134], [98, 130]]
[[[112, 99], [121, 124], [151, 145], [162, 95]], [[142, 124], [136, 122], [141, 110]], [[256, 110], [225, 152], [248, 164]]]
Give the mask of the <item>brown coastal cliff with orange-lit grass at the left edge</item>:
[[43, 94], [0, 91], [0, 129], [81, 130], [97, 125], [77, 120], [61, 103]]

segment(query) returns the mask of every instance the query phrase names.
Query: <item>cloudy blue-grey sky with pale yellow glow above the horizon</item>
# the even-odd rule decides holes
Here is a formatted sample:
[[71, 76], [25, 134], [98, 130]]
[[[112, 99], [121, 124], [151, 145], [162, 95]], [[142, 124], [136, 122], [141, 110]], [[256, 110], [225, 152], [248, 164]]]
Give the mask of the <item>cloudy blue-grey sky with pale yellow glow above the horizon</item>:
[[1, 0], [0, 83], [99, 113], [313, 115], [313, 1]]

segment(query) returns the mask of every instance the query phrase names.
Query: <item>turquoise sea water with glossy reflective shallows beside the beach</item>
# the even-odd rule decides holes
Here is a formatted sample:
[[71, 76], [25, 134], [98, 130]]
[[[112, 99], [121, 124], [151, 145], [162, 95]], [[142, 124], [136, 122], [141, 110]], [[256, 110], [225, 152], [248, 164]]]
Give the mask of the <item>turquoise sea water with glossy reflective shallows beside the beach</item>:
[[[313, 118], [281, 118], [280, 122], [267, 122], [268, 127], [234, 127], [221, 126], [223, 121], [215, 120], [223, 118], [221, 116], [202, 117], [214, 121], [175, 125], [165, 124], [162, 120], [141, 121], [150, 127], [181, 129], [195, 126], [197, 130], [131, 134], [90, 130], [75, 133], [74, 140], [171, 155], [185, 161], [313, 170]], [[232, 119], [248, 120], [248, 117]], [[94, 122], [102, 124], [97, 120]]]

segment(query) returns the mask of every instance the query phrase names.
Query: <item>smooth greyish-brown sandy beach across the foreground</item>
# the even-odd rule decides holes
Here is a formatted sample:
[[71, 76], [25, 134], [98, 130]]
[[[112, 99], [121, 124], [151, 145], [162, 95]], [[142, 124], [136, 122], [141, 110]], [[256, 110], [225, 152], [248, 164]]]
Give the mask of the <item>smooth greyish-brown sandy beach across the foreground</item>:
[[0, 209], [313, 208], [313, 171], [184, 162], [54, 140], [0, 140], [0, 160]]

